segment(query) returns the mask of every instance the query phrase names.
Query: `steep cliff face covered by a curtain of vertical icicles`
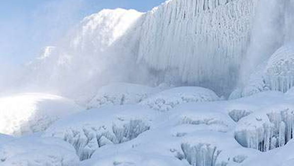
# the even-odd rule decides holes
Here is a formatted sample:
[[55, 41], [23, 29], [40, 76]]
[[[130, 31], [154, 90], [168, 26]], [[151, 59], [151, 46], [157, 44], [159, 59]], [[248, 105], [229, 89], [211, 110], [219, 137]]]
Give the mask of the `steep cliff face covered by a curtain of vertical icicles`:
[[157, 74], [162, 71], [160, 81], [196, 84], [218, 93], [231, 90], [249, 39], [254, 3], [167, 1], [145, 16], [138, 62], [146, 62]]

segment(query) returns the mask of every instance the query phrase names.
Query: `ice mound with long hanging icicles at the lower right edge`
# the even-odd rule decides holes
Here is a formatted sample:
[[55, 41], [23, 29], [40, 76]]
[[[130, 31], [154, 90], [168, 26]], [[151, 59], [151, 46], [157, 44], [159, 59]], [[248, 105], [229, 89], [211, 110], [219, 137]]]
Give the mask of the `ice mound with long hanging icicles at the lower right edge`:
[[294, 106], [275, 105], [241, 119], [236, 140], [244, 147], [269, 151], [284, 146], [294, 137]]

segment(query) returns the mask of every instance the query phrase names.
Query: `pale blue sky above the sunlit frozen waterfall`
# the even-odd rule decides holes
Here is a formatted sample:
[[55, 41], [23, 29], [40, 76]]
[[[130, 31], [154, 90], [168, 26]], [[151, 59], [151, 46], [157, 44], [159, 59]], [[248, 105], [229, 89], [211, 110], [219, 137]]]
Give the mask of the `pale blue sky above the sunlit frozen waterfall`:
[[103, 8], [147, 11], [165, 0], [1, 0], [0, 65], [25, 63]]

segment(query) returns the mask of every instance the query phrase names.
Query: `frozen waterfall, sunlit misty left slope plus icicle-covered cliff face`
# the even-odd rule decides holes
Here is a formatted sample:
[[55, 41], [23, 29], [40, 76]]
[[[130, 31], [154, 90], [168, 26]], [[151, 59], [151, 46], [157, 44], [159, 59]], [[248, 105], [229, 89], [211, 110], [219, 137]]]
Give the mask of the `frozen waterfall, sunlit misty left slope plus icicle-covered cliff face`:
[[32, 63], [27, 80], [75, 99], [111, 82], [196, 85], [228, 95], [254, 11], [255, 0], [169, 0], [147, 13], [102, 10]]

